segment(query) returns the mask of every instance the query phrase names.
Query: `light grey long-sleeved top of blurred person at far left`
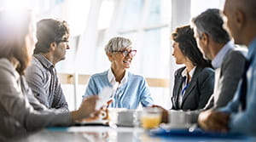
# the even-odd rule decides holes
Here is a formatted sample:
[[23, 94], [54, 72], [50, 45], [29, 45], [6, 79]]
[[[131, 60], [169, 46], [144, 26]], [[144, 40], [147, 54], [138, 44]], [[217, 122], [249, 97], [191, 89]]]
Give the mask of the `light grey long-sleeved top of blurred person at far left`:
[[[23, 77], [7, 59], [0, 59], [0, 138], [26, 134], [48, 126], [68, 126], [72, 123], [70, 113], [38, 109], [29, 103], [32, 97]], [[37, 99], [30, 98], [40, 107]], [[35, 107], [34, 106], [34, 107]]]

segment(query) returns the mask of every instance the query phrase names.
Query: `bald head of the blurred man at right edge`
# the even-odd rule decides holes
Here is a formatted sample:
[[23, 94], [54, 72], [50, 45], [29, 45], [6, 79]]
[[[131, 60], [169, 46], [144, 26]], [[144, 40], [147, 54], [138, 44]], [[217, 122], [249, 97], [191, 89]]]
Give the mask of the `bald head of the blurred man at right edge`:
[[251, 43], [256, 37], [256, 0], [226, 0], [224, 14], [235, 43]]

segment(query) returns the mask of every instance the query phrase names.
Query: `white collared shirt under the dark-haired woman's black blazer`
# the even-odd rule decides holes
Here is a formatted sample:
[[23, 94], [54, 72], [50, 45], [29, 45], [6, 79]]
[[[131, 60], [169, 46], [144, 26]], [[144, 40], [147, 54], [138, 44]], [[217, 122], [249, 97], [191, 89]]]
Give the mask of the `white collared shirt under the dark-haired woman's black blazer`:
[[[195, 68], [196, 68], [196, 66], [191, 70], [191, 71], [189, 71], [189, 76], [190, 76], [190, 78], [192, 78], [193, 77], [193, 75], [194, 75], [194, 72], [195, 72]], [[185, 88], [188, 84], [187, 84], [187, 82], [188, 82], [188, 71], [187, 71], [187, 68], [185, 68], [183, 71], [182, 71], [182, 77], [186, 77], [186, 80], [185, 80], [185, 82], [183, 82], [183, 84], [182, 84], [182, 88], [181, 88], [181, 90], [180, 90], [180, 95], [178, 96], [178, 106], [179, 107], [181, 107], [181, 105], [182, 105], [182, 103], [183, 103], [183, 95], [186, 93], [186, 90], [184, 90], [184, 92], [183, 92], [183, 95], [182, 95], [182, 90], [183, 90], [183, 88]]]

